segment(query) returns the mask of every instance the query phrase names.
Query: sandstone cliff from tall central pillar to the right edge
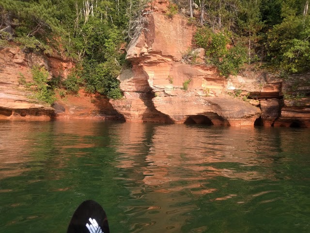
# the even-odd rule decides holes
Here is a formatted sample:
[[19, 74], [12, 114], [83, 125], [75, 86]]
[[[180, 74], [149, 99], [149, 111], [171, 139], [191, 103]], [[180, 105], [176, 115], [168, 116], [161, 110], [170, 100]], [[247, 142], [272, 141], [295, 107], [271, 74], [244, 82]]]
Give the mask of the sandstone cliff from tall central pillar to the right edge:
[[127, 47], [132, 66], [119, 76], [124, 99], [110, 100], [127, 121], [310, 126], [309, 99], [283, 101], [279, 78], [247, 70], [227, 79], [199, 64], [204, 55], [199, 48], [195, 64], [188, 64], [196, 28], [186, 17], [167, 17], [168, 5], [150, 6], [147, 29]]

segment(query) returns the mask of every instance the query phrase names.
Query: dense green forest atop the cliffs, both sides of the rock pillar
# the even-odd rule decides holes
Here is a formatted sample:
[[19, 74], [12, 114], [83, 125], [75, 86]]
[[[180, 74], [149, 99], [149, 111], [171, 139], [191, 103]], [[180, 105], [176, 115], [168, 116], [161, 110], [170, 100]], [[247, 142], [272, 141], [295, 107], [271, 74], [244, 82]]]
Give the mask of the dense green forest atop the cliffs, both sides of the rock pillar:
[[[116, 77], [124, 66], [124, 47], [143, 30], [146, 4], [1, 0], [0, 46], [15, 41], [26, 52], [61, 50], [79, 64], [63, 83], [68, 91], [77, 92], [84, 85], [91, 93], [120, 98]], [[179, 10], [189, 23], [197, 24], [197, 46], [207, 50], [210, 61], [226, 76], [238, 72], [240, 64], [255, 62], [286, 73], [310, 70], [309, 0], [174, 0], [171, 5], [167, 16]]]

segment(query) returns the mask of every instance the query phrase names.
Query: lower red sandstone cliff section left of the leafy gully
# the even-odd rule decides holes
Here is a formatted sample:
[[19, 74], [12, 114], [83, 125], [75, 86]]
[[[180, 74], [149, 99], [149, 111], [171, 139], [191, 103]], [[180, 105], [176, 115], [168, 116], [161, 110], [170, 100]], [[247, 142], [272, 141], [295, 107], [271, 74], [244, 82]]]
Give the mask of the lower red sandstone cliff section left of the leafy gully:
[[[56, 54], [56, 53], [55, 53]], [[33, 93], [19, 82], [33, 82], [31, 67], [45, 67], [50, 77], [66, 78], [74, 63], [60, 55], [43, 55], [22, 52], [16, 45], [0, 50], [0, 119], [51, 120], [51, 119], [123, 119], [109, 100], [100, 95], [89, 95], [83, 90], [77, 96], [61, 98], [53, 107], [31, 98]]]

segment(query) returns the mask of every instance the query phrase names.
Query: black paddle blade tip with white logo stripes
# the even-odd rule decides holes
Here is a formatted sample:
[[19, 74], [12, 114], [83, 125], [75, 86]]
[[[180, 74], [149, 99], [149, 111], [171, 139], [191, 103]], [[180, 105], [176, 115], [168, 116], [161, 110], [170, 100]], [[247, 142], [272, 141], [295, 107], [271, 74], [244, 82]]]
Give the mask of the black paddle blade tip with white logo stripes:
[[74, 212], [67, 233], [109, 233], [104, 209], [93, 200], [85, 200]]

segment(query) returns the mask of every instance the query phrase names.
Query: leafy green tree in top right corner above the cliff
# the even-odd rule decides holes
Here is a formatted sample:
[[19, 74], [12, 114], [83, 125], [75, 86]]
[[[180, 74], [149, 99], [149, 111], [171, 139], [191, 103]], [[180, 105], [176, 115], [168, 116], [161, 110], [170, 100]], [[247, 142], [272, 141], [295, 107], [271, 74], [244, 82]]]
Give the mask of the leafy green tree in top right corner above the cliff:
[[268, 60], [289, 73], [310, 70], [310, 16], [302, 14], [304, 6], [297, 0], [283, 1], [283, 20], [267, 34]]

